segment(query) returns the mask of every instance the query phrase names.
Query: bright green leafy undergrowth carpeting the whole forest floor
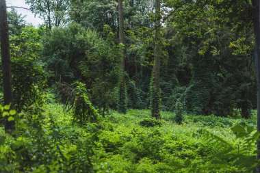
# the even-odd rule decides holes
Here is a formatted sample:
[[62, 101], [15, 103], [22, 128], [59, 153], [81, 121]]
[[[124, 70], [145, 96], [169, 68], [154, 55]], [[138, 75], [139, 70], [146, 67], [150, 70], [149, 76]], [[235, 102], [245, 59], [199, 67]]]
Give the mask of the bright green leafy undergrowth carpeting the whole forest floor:
[[177, 124], [171, 112], [157, 121], [148, 110], [110, 111], [79, 125], [57, 103], [34, 111], [19, 116], [16, 138], [1, 127], [0, 172], [250, 172], [257, 165], [255, 114], [184, 115]]

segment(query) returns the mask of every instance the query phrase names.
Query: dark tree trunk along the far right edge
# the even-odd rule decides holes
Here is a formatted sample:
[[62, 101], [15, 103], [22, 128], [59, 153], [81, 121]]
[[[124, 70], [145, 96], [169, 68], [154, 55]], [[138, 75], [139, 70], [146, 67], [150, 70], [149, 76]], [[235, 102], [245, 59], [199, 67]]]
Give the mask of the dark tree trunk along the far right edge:
[[[253, 24], [255, 33], [255, 51], [254, 61], [255, 69], [257, 72], [257, 131], [260, 132], [260, 18], [259, 18], [259, 0], [252, 0], [253, 5]], [[260, 150], [260, 143], [257, 142], [257, 150]], [[260, 159], [260, 154], [257, 155], [257, 159]], [[259, 172], [259, 170], [258, 170]]]

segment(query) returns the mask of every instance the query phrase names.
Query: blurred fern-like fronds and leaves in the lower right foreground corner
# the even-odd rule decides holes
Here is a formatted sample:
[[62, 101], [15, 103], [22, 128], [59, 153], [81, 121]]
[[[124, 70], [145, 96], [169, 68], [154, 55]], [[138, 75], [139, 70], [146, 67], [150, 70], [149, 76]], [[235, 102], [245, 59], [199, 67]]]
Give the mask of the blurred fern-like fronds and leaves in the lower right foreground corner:
[[203, 141], [216, 148], [215, 158], [211, 161], [211, 164], [205, 165], [204, 170], [220, 168], [229, 170], [229, 166], [233, 165], [242, 172], [252, 172], [260, 165], [255, 155], [257, 153], [255, 146], [260, 133], [255, 131], [253, 127], [247, 127], [244, 124], [237, 124], [231, 130], [236, 136], [232, 143], [226, 142], [218, 135], [205, 129], [200, 130]]

